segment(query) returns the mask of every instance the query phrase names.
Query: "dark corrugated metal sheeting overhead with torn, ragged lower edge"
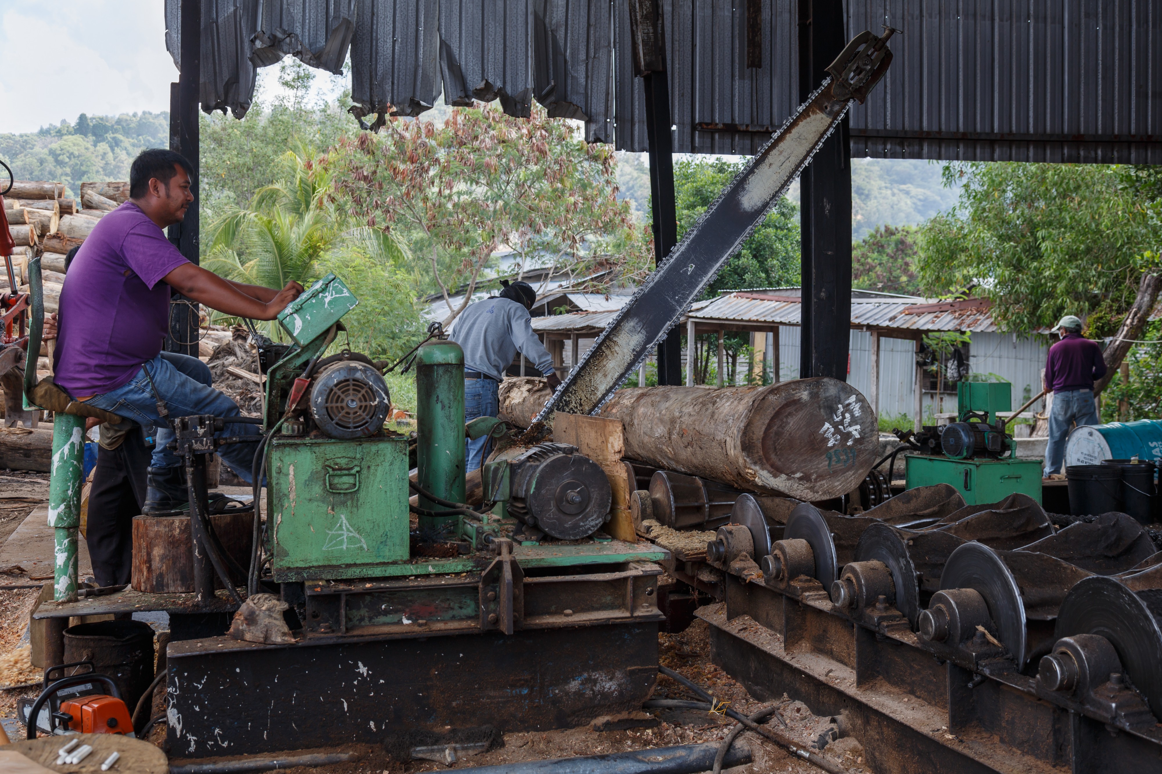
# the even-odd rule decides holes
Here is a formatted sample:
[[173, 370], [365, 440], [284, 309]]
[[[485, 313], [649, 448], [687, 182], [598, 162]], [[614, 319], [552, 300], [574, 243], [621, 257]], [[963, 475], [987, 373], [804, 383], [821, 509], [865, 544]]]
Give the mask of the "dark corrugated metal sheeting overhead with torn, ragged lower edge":
[[[799, 3], [760, 3], [761, 66], [749, 67], [748, 3], [659, 1], [674, 150], [753, 153], [798, 102]], [[178, 5], [166, 0], [175, 59]], [[203, 0], [205, 108], [245, 113], [254, 58], [290, 52], [333, 65], [350, 38], [352, 93], [366, 113], [390, 103], [417, 115], [443, 74], [453, 101], [496, 94], [523, 115], [531, 96], [551, 115], [587, 120], [590, 141], [646, 150], [627, 2], [294, 0], [267, 9], [275, 6]], [[848, 37], [885, 23], [903, 30], [883, 83], [852, 108], [855, 156], [1162, 163], [1162, 0], [847, 0], [846, 13]], [[266, 28], [275, 23], [277, 34]]]

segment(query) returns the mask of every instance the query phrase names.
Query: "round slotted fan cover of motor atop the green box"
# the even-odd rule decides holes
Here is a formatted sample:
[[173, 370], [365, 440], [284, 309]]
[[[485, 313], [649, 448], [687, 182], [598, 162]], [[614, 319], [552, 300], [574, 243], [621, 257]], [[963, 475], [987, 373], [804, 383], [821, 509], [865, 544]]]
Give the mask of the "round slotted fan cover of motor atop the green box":
[[340, 440], [379, 432], [390, 403], [383, 377], [358, 360], [325, 366], [310, 388], [311, 418], [325, 435]]

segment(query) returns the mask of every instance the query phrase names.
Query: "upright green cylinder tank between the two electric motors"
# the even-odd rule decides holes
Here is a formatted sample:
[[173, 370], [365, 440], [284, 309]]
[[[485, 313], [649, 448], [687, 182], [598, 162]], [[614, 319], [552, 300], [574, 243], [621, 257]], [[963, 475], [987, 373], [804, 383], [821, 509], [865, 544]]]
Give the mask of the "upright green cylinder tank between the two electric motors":
[[[464, 350], [433, 339], [416, 356], [416, 471], [421, 488], [451, 502], [464, 502]], [[447, 510], [424, 496], [419, 507]], [[459, 516], [419, 516], [422, 530], [449, 530]]]

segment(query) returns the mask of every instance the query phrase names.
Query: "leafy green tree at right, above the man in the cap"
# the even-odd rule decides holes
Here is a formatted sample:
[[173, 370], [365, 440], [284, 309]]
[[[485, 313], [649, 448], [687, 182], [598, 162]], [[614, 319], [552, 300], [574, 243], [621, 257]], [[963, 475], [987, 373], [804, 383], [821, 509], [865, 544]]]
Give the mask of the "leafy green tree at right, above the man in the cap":
[[960, 201], [920, 231], [920, 286], [991, 298], [1003, 330], [1102, 308], [1120, 317], [1156, 261], [1154, 184], [1132, 167], [953, 163], [945, 178]]

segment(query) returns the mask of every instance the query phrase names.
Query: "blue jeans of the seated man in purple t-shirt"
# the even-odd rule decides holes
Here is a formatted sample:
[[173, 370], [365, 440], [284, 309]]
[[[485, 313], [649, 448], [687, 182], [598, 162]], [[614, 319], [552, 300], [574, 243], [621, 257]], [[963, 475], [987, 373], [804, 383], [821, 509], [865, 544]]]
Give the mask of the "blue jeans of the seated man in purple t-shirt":
[[[94, 395], [88, 401], [89, 406], [112, 411], [117, 416], [132, 420], [139, 424], [157, 425], [157, 446], [153, 447], [153, 467], [173, 467], [181, 465], [182, 460], [166, 446], [173, 440], [173, 431], [165, 427], [160, 415], [157, 413], [157, 400], [150, 388], [150, 380], [145, 375], [153, 378], [153, 386], [158, 395], [165, 402], [171, 417], [191, 416], [194, 414], [213, 414], [214, 416], [239, 416], [238, 404], [232, 400], [209, 386], [209, 370], [205, 374], [193, 366], [179, 361], [181, 367], [174, 365], [170, 353], [158, 354], [156, 358], [142, 365], [132, 379], [128, 382], [102, 395]], [[196, 360], [196, 358], [188, 358]], [[202, 365], [201, 361], [198, 361]], [[205, 366], [203, 366], [205, 367]], [[193, 374], [193, 375], [192, 375]], [[198, 377], [206, 377], [202, 381]], [[254, 451], [260, 430], [254, 424], [228, 424], [218, 436], [254, 436], [254, 443], [227, 444], [218, 450], [222, 460], [230, 466], [238, 476], [248, 483], [252, 480], [250, 466], [254, 459]]]

